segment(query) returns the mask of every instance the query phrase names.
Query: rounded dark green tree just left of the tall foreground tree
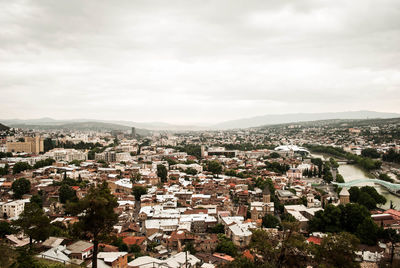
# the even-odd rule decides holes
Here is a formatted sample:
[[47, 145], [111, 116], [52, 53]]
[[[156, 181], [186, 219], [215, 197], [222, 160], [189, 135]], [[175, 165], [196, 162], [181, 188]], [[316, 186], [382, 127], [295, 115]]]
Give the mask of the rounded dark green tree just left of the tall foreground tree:
[[14, 223], [29, 236], [31, 247], [33, 240], [44, 241], [50, 235], [50, 219], [36, 203], [25, 204], [24, 211]]

